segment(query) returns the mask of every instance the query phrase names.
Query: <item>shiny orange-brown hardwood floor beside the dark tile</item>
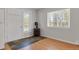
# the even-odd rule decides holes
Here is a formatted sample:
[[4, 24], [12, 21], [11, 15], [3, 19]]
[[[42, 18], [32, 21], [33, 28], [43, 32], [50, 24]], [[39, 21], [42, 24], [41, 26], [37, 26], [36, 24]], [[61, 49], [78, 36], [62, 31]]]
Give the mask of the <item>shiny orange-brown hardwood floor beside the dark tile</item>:
[[42, 40], [20, 48], [19, 50], [79, 50], [79, 45], [43, 38]]

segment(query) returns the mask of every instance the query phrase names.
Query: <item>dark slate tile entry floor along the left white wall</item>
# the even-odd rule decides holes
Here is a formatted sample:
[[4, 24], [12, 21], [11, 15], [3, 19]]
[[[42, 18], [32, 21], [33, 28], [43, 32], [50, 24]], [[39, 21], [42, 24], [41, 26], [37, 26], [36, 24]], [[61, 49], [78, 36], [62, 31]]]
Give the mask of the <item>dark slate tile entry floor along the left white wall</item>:
[[39, 40], [42, 40], [43, 37], [30, 37], [30, 38], [23, 38], [19, 39], [17, 41], [11, 41], [7, 44], [11, 47], [12, 50], [17, 50], [23, 47], [26, 47], [34, 42], [37, 42]]

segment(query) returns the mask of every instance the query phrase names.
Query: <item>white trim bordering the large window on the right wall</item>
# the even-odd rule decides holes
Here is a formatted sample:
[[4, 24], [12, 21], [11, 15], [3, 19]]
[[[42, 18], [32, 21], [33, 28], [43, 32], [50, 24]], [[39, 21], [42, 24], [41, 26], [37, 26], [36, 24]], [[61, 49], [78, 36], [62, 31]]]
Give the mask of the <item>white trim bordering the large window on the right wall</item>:
[[[57, 12], [63, 12], [64, 13], [64, 11], [68, 11], [68, 13], [69, 13], [69, 16], [68, 16], [68, 26], [62, 27], [62, 26], [59, 26], [58, 24], [57, 24], [57, 26], [50, 26], [49, 25], [49, 20], [48, 20], [49, 15], [57, 13]], [[64, 19], [64, 17], [63, 17], [63, 19]], [[57, 23], [58, 23], [58, 21], [57, 21]], [[53, 28], [70, 28], [70, 9], [63, 9], [63, 10], [58, 10], [58, 11], [54, 11], [54, 12], [48, 12], [47, 13], [47, 27], [53, 27]]]

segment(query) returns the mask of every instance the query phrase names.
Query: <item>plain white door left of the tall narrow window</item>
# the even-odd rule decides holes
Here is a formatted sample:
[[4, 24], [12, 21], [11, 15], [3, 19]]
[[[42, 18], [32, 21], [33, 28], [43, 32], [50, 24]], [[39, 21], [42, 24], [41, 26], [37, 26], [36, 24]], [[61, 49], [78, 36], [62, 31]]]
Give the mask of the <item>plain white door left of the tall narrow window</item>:
[[20, 9], [5, 9], [5, 42], [21, 38], [22, 11]]

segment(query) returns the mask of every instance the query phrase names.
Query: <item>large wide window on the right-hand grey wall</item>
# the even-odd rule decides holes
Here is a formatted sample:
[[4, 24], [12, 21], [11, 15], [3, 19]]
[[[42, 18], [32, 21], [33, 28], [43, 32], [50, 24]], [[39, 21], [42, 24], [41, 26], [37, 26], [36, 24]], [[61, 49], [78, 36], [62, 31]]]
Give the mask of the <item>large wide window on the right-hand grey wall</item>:
[[47, 13], [48, 27], [70, 27], [70, 9], [59, 10]]

